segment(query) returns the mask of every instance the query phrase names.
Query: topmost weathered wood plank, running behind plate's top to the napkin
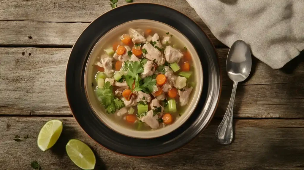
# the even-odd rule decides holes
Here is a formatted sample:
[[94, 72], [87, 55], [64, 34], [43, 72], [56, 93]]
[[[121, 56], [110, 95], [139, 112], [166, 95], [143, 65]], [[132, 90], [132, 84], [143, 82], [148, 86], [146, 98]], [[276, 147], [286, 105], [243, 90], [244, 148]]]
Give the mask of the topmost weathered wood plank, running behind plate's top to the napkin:
[[[214, 37], [187, 1], [176, 0], [172, 3], [163, 0], [136, 0], [136, 2], [158, 3], [183, 12], [202, 27], [214, 45], [226, 47]], [[127, 4], [125, 1], [118, 2], [118, 6], [125, 4]], [[35, 45], [73, 45], [76, 38], [88, 23], [41, 22], [92, 22], [99, 15], [102, 15], [110, 9], [109, 0], [4, 0], [0, 3], [0, 30], [2, 30], [0, 32], [0, 44], [20, 45], [24, 43], [26, 45], [32, 45], [34, 43]], [[32, 36], [33, 39], [27, 41], [27, 36]], [[47, 39], [47, 37], [50, 37], [50, 39]], [[21, 41], [18, 42], [20, 38]]]

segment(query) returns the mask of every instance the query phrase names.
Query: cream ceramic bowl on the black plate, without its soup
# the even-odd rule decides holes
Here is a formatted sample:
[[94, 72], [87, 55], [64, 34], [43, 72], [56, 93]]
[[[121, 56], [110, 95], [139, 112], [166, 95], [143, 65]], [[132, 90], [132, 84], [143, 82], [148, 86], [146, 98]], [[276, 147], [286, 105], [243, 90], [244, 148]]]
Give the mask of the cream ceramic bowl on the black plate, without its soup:
[[[92, 88], [92, 84], [91, 84], [92, 82], [95, 81], [93, 76], [95, 75], [95, 73], [93, 73], [92, 65], [96, 61], [96, 58], [100, 57], [102, 47], [106, 46], [109, 40], [111, 40], [112, 38], [117, 39], [119, 35], [126, 33], [126, 30], [128, 28], [141, 28], [141, 27], [149, 27], [152, 29], [158, 28], [160, 30], [163, 30], [164, 32], [170, 32], [170, 34], [175, 36], [175, 38], [178, 38], [181, 42], [184, 43], [184, 45], [188, 48], [189, 52], [191, 53], [193, 66], [195, 68], [194, 76], [195, 76], [196, 86], [192, 90], [193, 97], [189, 100], [188, 108], [185, 110], [184, 114], [181, 115], [181, 117], [171, 125], [167, 125], [164, 128], [160, 128], [157, 130], [150, 130], [150, 131], [137, 131], [135, 129], [126, 128], [125, 126], [119, 125], [116, 122], [114, 122], [111, 118], [109, 118], [108, 114], [105, 112], [102, 106], [100, 106], [100, 102], [97, 100], [97, 97], [94, 92], [94, 88]], [[85, 91], [92, 110], [95, 112], [96, 115], [98, 115], [101, 121], [109, 128], [113, 129], [114, 131], [122, 135], [130, 136], [134, 138], [156, 138], [174, 131], [190, 117], [202, 93], [202, 86], [203, 86], [202, 72], [203, 72], [202, 65], [199, 60], [199, 56], [195, 51], [195, 48], [192, 46], [189, 40], [184, 35], [182, 35], [178, 30], [162, 22], [157, 22], [152, 20], [134, 20], [123, 23], [113, 28], [104, 36], [102, 36], [100, 40], [96, 43], [95, 47], [93, 48], [88, 58], [88, 62], [85, 68]]]

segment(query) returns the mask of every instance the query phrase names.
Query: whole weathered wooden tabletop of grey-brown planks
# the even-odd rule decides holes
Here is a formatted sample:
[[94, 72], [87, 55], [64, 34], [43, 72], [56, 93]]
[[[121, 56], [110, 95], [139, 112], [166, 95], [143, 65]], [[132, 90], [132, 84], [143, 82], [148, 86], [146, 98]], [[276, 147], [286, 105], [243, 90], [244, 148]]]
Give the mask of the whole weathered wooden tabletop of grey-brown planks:
[[[102, 148], [72, 117], [64, 74], [76, 38], [96, 17], [111, 9], [109, 1], [1, 0], [1, 170], [31, 169], [33, 160], [43, 169], [78, 169], [65, 153], [65, 144], [71, 138], [82, 140], [94, 150], [96, 169], [304, 168], [303, 55], [281, 70], [253, 58], [251, 78], [237, 90], [234, 141], [228, 146], [219, 145], [214, 133], [226, 111], [233, 84], [225, 72], [229, 49], [212, 35], [185, 0], [134, 1], [168, 5], [185, 13], [214, 43], [223, 88], [216, 114], [206, 130], [184, 148], [156, 158], [129, 158]], [[125, 1], [119, 0], [117, 5], [123, 4]], [[64, 130], [54, 147], [42, 152], [36, 144], [37, 136], [50, 119], [63, 121]]]

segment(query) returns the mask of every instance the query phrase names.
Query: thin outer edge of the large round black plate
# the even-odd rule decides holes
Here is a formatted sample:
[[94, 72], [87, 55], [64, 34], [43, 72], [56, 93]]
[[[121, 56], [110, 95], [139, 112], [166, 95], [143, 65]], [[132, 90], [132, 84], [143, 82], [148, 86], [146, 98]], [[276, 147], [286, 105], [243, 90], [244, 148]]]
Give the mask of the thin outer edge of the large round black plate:
[[180, 13], [180, 14], [182, 14], [182, 15], [184, 15], [187, 19], [189, 19], [189, 20], [191, 20], [197, 27], [199, 27], [200, 28], [200, 30], [204, 33], [204, 35], [206, 36], [206, 38], [208, 39], [208, 42], [210, 43], [210, 45], [211, 45], [211, 48], [212, 48], [212, 50], [213, 50], [213, 55], [215, 55], [215, 58], [214, 58], [214, 60], [215, 60], [215, 67], [216, 67], [216, 69], [218, 69], [217, 70], [217, 72], [218, 72], [218, 74], [219, 74], [219, 77], [218, 77], [218, 81], [219, 81], [219, 87], [218, 87], [218, 94], [216, 95], [216, 101], [214, 101], [214, 102], [216, 102], [216, 105], [215, 105], [215, 107], [213, 108], [213, 110], [212, 110], [212, 113], [210, 114], [210, 117], [209, 117], [209, 119], [207, 120], [207, 122], [206, 122], [206, 124], [205, 124], [205, 126], [203, 127], [203, 128], [201, 128], [200, 130], [199, 130], [199, 132], [198, 133], [196, 133], [191, 139], [189, 139], [188, 141], [186, 141], [186, 142], [184, 142], [183, 144], [181, 144], [181, 145], [179, 145], [178, 147], [176, 147], [176, 148], [174, 148], [174, 149], [171, 149], [171, 150], [168, 150], [168, 151], [166, 151], [166, 152], [162, 152], [162, 153], [158, 153], [158, 154], [155, 154], [155, 155], [133, 155], [133, 154], [126, 154], [126, 153], [122, 153], [122, 152], [119, 152], [119, 151], [117, 151], [117, 150], [112, 150], [111, 148], [108, 148], [108, 147], [106, 147], [106, 146], [104, 146], [104, 145], [102, 145], [101, 143], [99, 143], [99, 142], [97, 142], [97, 140], [95, 140], [93, 137], [91, 137], [89, 134], [88, 134], [88, 132], [86, 132], [85, 131], [85, 129], [80, 125], [80, 123], [78, 122], [78, 120], [76, 119], [76, 117], [75, 117], [75, 114], [73, 113], [73, 111], [72, 111], [72, 107], [71, 107], [71, 101], [69, 101], [69, 95], [68, 95], [68, 90], [67, 90], [67, 72], [68, 72], [68, 64], [69, 64], [69, 62], [70, 62], [70, 60], [71, 60], [71, 54], [72, 54], [72, 51], [73, 51], [73, 49], [74, 49], [74, 45], [79, 41], [79, 38], [81, 37], [81, 35], [86, 31], [86, 29], [95, 21], [95, 20], [97, 20], [98, 18], [100, 18], [102, 15], [105, 15], [105, 14], [107, 14], [108, 12], [110, 12], [110, 11], [112, 11], [112, 10], [115, 10], [115, 9], [111, 9], [111, 10], [108, 10], [107, 12], [104, 12], [103, 14], [101, 14], [100, 16], [98, 16], [97, 18], [95, 18], [82, 32], [81, 32], [81, 34], [78, 36], [78, 38], [77, 38], [77, 40], [75, 41], [75, 43], [74, 43], [74, 45], [73, 45], [73, 47], [72, 47], [72, 49], [71, 49], [71, 52], [70, 52], [70, 54], [69, 54], [69, 58], [68, 58], [68, 60], [67, 60], [67, 66], [66, 66], [66, 72], [65, 72], [65, 91], [66, 91], [66, 97], [67, 97], [67, 102], [68, 102], [68, 105], [69, 105], [69, 108], [71, 109], [71, 113], [72, 113], [72, 115], [73, 115], [73, 117], [74, 117], [74, 119], [76, 120], [76, 122], [78, 123], [78, 125], [81, 127], [81, 129], [82, 129], [82, 131], [83, 132], [85, 132], [85, 134], [87, 134], [88, 135], [88, 137], [89, 138], [91, 138], [94, 142], [96, 142], [98, 145], [100, 145], [102, 148], [105, 148], [105, 149], [107, 149], [107, 150], [109, 150], [109, 151], [111, 151], [111, 152], [115, 152], [116, 154], [119, 154], [119, 155], [123, 155], [123, 156], [128, 156], [128, 157], [135, 157], [135, 158], [151, 158], [151, 157], [156, 157], [156, 156], [160, 156], [160, 155], [166, 155], [166, 154], [168, 154], [168, 153], [171, 153], [171, 152], [174, 152], [174, 151], [176, 151], [176, 150], [178, 150], [178, 149], [180, 149], [180, 148], [182, 148], [183, 146], [185, 146], [185, 145], [187, 145], [189, 142], [191, 142], [191, 141], [193, 141], [195, 138], [197, 138], [205, 129], [206, 129], [206, 127], [209, 125], [209, 123], [210, 123], [210, 121], [212, 120], [212, 118], [213, 118], [213, 116], [214, 116], [214, 114], [215, 114], [215, 112], [216, 112], [216, 109], [217, 109], [217, 107], [218, 107], [218, 104], [219, 104], [219, 99], [220, 99], [220, 96], [221, 96], [221, 92], [222, 92], [222, 71], [221, 71], [221, 68], [220, 68], [220, 65], [219, 65], [219, 58], [218, 58], [218, 54], [217, 54], [217, 52], [216, 52], [216, 48], [214, 47], [214, 45], [213, 45], [213, 42], [211, 41], [211, 39], [209, 38], [209, 36], [206, 34], [206, 32], [192, 19], [192, 18], [190, 18], [189, 16], [187, 16], [187, 15], [185, 15], [184, 13], [182, 13], [182, 12], [180, 12], [180, 11], [178, 11], [178, 10], [176, 10], [176, 9], [174, 9], [174, 8], [171, 8], [171, 7], [168, 7], [168, 6], [166, 6], [166, 5], [161, 5], [161, 4], [157, 4], [157, 3], [143, 3], [143, 2], [136, 2], [136, 3], [132, 3], [132, 4], [126, 4], [126, 5], [121, 5], [121, 6], [119, 6], [119, 7], [117, 7], [117, 8], [122, 8], [122, 7], [124, 7], [124, 6], [127, 6], [127, 5], [136, 5], [136, 4], [143, 4], [143, 5], [159, 5], [159, 6], [162, 6], [162, 7], [165, 7], [165, 8], [169, 8], [169, 9], [171, 9], [171, 10], [173, 10], [174, 12], [177, 12], [177, 13]]

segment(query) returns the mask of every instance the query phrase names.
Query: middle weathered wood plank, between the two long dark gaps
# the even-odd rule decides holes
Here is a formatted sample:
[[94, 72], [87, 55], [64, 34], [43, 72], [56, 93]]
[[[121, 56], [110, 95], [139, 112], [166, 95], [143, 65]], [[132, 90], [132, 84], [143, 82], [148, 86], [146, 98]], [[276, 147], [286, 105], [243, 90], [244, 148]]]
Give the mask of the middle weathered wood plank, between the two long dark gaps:
[[[0, 48], [0, 114], [71, 115], [64, 90], [70, 50]], [[223, 68], [223, 89], [216, 116], [222, 116], [229, 102], [232, 82], [224, 71], [228, 49], [217, 51]], [[300, 64], [292, 75], [288, 75], [261, 62], [256, 65], [251, 79], [238, 87], [234, 115], [303, 117], [304, 66]]]

